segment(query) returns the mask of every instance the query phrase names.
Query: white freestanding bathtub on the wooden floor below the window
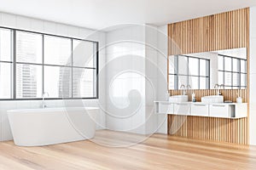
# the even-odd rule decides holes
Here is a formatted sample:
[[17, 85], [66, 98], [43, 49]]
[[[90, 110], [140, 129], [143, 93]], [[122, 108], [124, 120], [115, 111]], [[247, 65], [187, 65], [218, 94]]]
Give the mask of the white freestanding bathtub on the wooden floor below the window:
[[96, 132], [94, 107], [7, 111], [16, 145], [42, 146], [92, 139]]

